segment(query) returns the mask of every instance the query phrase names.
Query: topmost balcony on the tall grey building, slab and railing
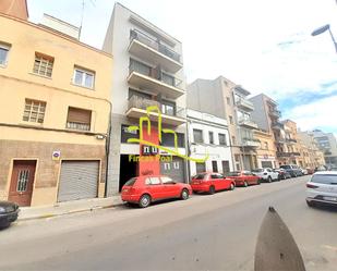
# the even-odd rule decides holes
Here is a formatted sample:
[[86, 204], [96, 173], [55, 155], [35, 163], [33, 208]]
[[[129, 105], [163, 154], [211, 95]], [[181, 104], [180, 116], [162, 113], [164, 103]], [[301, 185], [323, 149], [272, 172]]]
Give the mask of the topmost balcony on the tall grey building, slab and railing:
[[140, 30], [130, 30], [129, 52], [149, 63], [161, 65], [171, 73], [177, 73], [182, 67], [178, 52]]

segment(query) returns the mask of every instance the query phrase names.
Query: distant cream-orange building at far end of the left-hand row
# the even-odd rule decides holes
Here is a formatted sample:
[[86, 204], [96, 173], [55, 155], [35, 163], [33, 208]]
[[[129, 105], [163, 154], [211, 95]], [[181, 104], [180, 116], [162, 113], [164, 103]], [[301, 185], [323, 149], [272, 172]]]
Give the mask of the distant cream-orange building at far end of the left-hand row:
[[310, 132], [298, 131], [298, 139], [301, 143], [300, 152], [305, 168], [315, 169], [325, 164], [324, 153], [318, 149], [317, 143]]

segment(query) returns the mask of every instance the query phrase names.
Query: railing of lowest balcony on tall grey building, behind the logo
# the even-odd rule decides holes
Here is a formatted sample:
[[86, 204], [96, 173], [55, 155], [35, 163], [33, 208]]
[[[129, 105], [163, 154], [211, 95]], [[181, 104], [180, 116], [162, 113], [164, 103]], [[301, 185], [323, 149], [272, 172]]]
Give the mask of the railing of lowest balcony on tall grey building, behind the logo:
[[171, 116], [178, 116], [178, 118], [183, 118], [183, 119], [186, 116], [184, 108], [174, 106], [171, 111], [166, 110], [165, 112], [163, 112], [161, 104], [163, 103], [160, 103], [159, 101], [151, 100], [151, 99], [146, 99], [146, 98], [133, 95], [129, 99], [128, 110], [131, 108], [146, 110], [148, 107], [156, 106], [160, 110], [163, 115], [171, 115]]

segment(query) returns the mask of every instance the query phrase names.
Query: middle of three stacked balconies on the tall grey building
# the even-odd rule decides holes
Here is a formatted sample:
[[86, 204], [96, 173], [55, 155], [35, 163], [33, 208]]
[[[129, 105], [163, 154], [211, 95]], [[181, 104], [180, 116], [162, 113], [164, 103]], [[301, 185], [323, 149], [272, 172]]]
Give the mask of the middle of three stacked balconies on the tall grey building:
[[151, 90], [154, 94], [163, 94], [171, 99], [177, 99], [185, 94], [181, 89], [182, 81], [160, 71], [160, 69], [153, 69], [133, 61], [130, 63], [129, 72], [129, 84], [139, 88]]

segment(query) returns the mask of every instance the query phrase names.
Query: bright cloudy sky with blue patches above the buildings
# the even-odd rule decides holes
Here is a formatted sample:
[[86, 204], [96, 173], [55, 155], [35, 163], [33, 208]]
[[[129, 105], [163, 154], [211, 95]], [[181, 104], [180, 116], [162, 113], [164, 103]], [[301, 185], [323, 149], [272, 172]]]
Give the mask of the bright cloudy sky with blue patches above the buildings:
[[[101, 48], [113, 0], [28, 0], [29, 20], [43, 13], [80, 26], [81, 41]], [[188, 83], [219, 75], [276, 100], [282, 119], [302, 131], [337, 136], [337, 0], [120, 0], [183, 46]]]

